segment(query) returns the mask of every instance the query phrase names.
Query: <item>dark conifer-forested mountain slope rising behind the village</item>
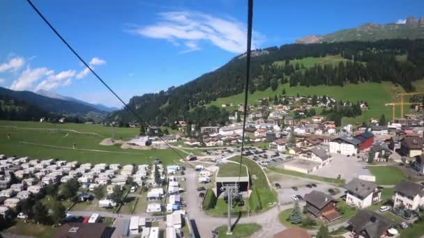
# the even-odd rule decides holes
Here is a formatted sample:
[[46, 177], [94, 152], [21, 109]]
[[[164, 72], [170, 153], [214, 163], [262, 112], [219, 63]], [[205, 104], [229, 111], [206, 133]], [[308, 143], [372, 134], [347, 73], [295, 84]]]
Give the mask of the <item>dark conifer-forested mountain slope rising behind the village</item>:
[[[376, 42], [334, 42], [320, 44], [292, 44], [259, 50], [262, 54], [252, 58], [250, 93], [259, 90], [276, 90], [279, 84], [289, 86], [343, 86], [359, 82], [391, 81], [404, 90], [414, 90], [411, 82], [424, 77], [424, 40], [379, 40]], [[341, 58], [336, 62], [299, 63], [303, 58]], [[404, 60], [399, 61], [398, 58]], [[297, 61], [297, 63], [296, 63]], [[222, 122], [227, 113], [216, 107], [195, 109], [220, 97], [243, 92], [245, 57], [237, 56], [218, 70], [183, 84], [135, 96], [129, 102], [146, 121], [192, 120], [194, 113], [215, 115], [206, 122]], [[194, 110], [193, 110], [194, 109]], [[111, 120], [132, 121], [135, 118], [126, 110], [111, 114]]]

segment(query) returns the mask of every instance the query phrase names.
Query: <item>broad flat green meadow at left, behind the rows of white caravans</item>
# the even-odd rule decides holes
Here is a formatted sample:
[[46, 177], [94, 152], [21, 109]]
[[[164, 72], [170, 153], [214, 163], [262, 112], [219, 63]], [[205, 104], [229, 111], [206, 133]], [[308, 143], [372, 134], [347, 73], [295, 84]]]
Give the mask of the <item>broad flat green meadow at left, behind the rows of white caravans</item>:
[[[72, 129], [75, 131], [66, 131]], [[137, 135], [136, 128], [113, 128], [115, 138], [129, 139]], [[8, 138], [10, 134], [10, 139]], [[100, 145], [110, 138], [112, 127], [75, 123], [0, 121], [0, 153], [29, 156], [37, 159], [56, 158], [93, 164], [144, 164], [160, 158], [164, 164], [174, 163], [179, 156], [172, 150], [121, 149], [120, 145]], [[76, 149], [73, 149], [76, 143]], [[181, 156], [186, 154], [179, 151]]]

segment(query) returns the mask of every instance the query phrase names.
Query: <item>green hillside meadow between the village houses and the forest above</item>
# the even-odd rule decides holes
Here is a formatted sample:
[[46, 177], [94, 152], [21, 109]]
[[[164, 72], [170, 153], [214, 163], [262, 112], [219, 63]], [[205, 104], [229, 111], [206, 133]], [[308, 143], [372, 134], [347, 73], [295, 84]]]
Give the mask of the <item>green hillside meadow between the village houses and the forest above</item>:
[[[386, 118], [391, 118], [391, 106], [385, 106], [388, 102], [398, 102], [400, 99], [395, 95], [396, 93], [404, 92], [404, 89], [400, 86], [395, 86], [391, 82], [383, 81], [381, 84], [378, 83], [362, 83], [362, 84], [347, 84], [343, 87], [340, 86], [296, 86], [289, 87], [289, 84], [280, 84], [278, 88], [273, 91], [271, 88], [267, 88], [264, 91], [256, 91], [249, 95], [249, 104], [257, 104], [257, 100], [264, 97], [279, 95], [282, 89], [285, 88], [287, 95], [327, 95], [333, 97], [335, 100], [349, 100], [356, 102], [360, 100], [367, 101], [370, 110], [363, 111], [361, 116], [356, 118], [343, 118], [342, 123], [362, 123], [368, 122], [370, 118], [379, 118], [384, 113]], [[218, 100], [211, 102], [211, 105], [221, 106], [222, 104], [234, 105], [242, 104], [244, 99], [243, 93], [233, 95], [230, 97], [222, 97]], [[234, 108], [233, 108], [234, 109]], [[407, 107], [405, 107], [407, 109]], [[229, 109], [231, 110], [231, 109]], [[400, 116], [400, 108], [396, 109], [396, 115]]]

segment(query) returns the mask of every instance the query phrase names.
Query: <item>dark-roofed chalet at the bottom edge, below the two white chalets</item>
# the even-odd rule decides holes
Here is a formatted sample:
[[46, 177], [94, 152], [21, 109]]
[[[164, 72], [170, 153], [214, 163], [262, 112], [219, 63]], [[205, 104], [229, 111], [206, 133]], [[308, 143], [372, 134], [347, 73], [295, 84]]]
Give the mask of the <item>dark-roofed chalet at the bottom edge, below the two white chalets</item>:
[[347, 223], [351, 227], [354, 237], [379, 238], [388, 235], [387, 230], [395, 223], [376, 212], [361, 209]]

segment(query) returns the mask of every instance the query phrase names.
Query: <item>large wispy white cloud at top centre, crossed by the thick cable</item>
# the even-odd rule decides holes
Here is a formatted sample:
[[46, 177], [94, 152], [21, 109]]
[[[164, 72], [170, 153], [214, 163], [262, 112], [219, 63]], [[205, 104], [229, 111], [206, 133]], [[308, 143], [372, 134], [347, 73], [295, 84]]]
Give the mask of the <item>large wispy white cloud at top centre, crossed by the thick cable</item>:
[[[185, 45], [186, 52], [200, 49], [199, 42], [208, 41], [226, 51], [243, 53], [246, 50], [247, 29], [234, 19], [213, 17], [204, 13], [189, 11], [165, 12], [159, 14], [160, 21], [150, 26], [129, 30], [149, 38], [165, 39], [173, 45]], [[254, 32], [252, 48], [263, 38]], [[183, 51], [183, 52], [184, 52]]]

